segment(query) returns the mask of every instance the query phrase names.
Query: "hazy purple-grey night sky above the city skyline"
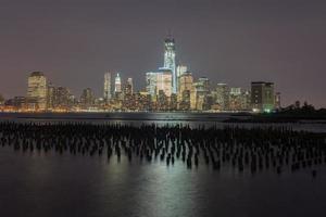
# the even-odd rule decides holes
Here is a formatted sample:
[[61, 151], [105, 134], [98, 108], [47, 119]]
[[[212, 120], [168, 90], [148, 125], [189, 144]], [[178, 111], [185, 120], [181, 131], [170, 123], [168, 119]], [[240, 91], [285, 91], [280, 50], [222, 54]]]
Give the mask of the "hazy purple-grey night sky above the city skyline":
[[100, 97], [106, 71], [139, 89], [168, 31], [197, 78], [326, 106], [325, 0], [0, 0], [0, 93], [25, 95], [33, 71], [76, 97]]

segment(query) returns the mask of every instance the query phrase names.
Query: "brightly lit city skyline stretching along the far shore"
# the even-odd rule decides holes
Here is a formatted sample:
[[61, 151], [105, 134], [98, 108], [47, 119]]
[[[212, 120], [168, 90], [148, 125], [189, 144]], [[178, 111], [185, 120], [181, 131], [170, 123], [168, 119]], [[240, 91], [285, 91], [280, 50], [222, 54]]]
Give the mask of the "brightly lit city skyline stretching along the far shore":
[[[177, 65], [175, 39], [164, 39], [163, 67], [146, 73], [146, 87], [134, 90], [133, 78], [123, 80], [120, 72], [104, 73], [103, 92], [98, 97], [89, 87], [80, 97], [70, 87], [54, 85], [43, 72], [33, 72], [27, 79], [27, 94], [0, 100], [7, 112], [140, 112], [211, 111], [267, 112], [281, 110], [280, 93], [274, 82], [252, 81], [251, 90], [195, 78], [186, 65]], [[111, 79], [115, 75], [114, 82]]]

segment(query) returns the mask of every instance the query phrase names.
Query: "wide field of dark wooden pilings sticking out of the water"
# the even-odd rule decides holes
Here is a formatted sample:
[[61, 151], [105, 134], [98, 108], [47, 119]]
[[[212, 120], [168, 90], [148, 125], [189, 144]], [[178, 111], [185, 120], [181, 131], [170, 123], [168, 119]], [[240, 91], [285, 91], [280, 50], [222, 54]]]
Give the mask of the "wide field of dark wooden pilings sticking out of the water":
[[0, 145], [23, 152], [70, 152], [73, 155], [116, 155], [152, 162], [176, 161], [191, 169], [214, 170], [230, 165], [252, 174], [273, 169], [311, 169], [326, 164], [326, 133], [294, 131], [288, 127], [198, 127], [92, 125], [86, 123], [0, 123]]

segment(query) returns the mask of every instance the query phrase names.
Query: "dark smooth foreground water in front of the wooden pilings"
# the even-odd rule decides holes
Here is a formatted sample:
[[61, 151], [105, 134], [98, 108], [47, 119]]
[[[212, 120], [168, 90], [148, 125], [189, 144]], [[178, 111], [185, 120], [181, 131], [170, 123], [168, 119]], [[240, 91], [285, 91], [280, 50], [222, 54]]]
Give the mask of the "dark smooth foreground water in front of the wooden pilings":
[[179, 161], [167, 167], [160, 161], [108, 162], [5, 146], [0, 216], [325, 216], [326, 169], [316, 169], [316, 178], [310, 169], [252, 175], [231, 167], [187, 169]]

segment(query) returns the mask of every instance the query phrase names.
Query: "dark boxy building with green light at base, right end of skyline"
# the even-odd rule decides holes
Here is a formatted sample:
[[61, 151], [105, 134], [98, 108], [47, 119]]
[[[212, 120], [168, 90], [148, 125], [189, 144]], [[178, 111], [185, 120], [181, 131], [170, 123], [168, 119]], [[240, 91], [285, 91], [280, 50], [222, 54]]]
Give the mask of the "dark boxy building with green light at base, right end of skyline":
[[271, 112], [275, 108], [274, 100], [274, 82], [251, 82], [252, 110], [256, 112]]

